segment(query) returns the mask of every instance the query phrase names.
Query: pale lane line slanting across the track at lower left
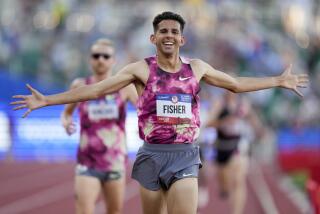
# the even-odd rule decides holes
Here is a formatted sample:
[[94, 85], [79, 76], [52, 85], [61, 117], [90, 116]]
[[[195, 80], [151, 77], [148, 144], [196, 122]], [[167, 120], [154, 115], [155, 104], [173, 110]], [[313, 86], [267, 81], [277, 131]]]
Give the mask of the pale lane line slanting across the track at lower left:
[[71, 197], [73, 195], [73, 191], [70, 190], [70, 187], [73, 187], [73, 182], [64, 182], [62, 184], [55, 185], [44, 191], [37, 192], [33, 195], [0, 207], [0, 213], [24, 213], [50, 204], [54, 201]]

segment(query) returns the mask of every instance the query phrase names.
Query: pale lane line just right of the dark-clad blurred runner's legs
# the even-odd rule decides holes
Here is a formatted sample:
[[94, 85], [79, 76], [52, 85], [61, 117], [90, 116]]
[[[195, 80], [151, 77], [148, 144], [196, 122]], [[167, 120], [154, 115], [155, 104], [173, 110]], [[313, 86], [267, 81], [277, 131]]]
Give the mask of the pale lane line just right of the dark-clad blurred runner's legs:
[[260, 166], [254, 160], [251, 161], [251, 167], [252, 169], [250, 171], [253, 173], [248, 176], [249, 183], [253, 187], [253, 191], [260, 202], [263, 212], [268, 214], [279, 214], [278, 208], [261, 172]]

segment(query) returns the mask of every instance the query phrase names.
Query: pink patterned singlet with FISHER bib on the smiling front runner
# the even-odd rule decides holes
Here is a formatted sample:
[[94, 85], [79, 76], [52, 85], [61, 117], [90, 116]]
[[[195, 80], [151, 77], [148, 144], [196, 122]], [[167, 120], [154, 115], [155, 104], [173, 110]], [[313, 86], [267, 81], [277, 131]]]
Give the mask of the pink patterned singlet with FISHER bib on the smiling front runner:
[[151, 144], [193, 143], [199, 135], [200, 92], [188, 59], [176, 73], [163, 71], [156, 57], [145, 59], [149, 78], [138, 100], [139, 135]]

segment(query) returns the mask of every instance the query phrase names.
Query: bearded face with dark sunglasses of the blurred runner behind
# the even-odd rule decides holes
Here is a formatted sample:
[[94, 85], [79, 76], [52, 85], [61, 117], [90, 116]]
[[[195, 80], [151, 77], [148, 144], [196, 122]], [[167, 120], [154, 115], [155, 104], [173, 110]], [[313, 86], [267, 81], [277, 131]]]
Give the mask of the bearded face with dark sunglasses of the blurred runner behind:
[[90, 64], [96, 74], [107, 73], [114, 64], [114, 49], [110, 46], [95, 44], [91, 48]]

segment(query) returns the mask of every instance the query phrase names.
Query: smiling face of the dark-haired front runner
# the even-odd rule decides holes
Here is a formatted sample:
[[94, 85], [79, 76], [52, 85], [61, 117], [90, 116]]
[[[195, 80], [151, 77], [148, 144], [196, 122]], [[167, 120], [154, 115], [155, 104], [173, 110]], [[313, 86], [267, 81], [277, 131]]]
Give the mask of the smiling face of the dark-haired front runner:
[[156, 45], [157, 51], [171, 55], [179, 51], [184, 45], [184, 37], [180, 30], [180, 23], [174, 20], [163, 20], [158, 24], [157, 31], [150, 40]]

